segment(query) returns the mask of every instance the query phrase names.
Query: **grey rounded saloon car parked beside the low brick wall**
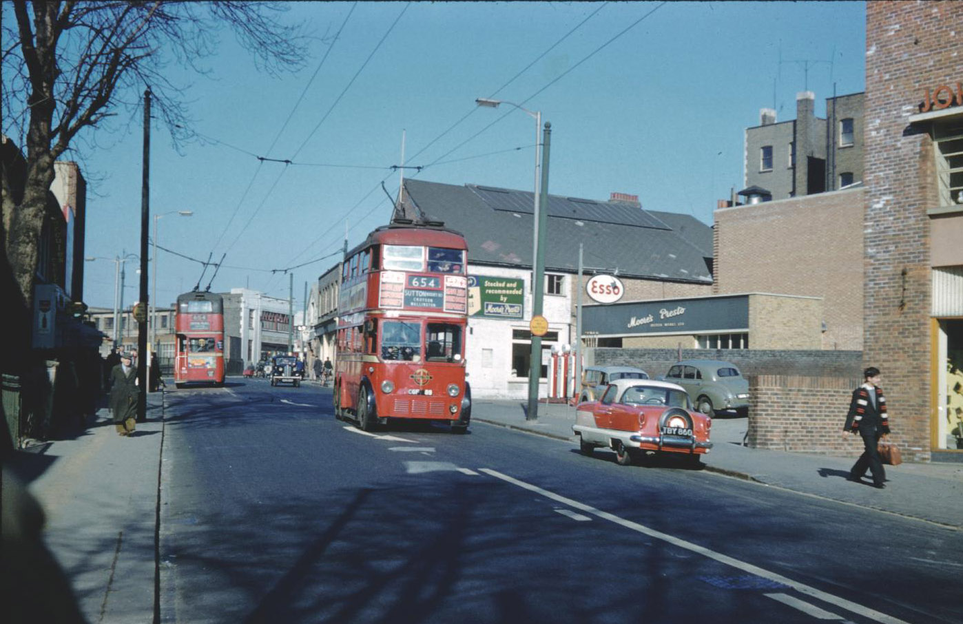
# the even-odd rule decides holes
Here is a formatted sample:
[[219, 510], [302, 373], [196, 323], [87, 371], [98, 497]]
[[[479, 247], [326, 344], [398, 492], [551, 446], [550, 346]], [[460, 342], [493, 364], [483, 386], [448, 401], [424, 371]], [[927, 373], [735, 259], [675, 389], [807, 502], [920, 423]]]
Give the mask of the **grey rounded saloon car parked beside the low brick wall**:
[[703, 414], [742, 413], [749, 408], [749, 382], [732, 362], [683, 360], [672, 365], [665, 380], [685, 388], [695, 408]]

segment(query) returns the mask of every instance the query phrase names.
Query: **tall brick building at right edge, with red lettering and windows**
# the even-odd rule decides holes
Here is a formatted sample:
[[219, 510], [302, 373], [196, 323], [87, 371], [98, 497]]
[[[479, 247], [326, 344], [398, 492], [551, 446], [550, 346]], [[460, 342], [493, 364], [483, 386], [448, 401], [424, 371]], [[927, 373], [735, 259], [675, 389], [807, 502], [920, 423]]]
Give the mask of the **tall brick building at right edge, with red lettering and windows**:
[[900, 444], [963, 460], [963, 3], [867, 3], [864, 361]]

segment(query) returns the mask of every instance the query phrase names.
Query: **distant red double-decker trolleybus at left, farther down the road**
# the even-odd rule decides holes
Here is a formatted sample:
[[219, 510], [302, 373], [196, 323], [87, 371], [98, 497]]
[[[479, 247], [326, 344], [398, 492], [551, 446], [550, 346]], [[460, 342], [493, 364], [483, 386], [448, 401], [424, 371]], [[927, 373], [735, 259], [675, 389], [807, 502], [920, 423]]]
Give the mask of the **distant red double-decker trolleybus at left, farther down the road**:
[[177, 298], [174, 383], [224, 382], [224, 304], [221, 295], [201, 291]]

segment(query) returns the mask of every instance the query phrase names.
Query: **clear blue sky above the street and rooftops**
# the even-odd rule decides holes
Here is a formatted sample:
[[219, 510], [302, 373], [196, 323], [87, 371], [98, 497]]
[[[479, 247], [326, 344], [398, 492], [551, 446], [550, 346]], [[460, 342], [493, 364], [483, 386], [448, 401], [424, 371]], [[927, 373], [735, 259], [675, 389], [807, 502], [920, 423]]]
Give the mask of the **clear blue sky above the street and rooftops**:
[[[834, 83], [839, 94], [865, 88], [862, 2], [299, 2], [284, 18], [318, 37], [299, 74], [259, 73], [229, 32], [209, 76], [175, 74], [191, 83], [196, 130], [220, 143], [178, 153], [164, 127], [153, 128], [152, 215], [194, 211], [162, 218], [159, 244], [198, 260], [226, 252], [214, 291], [286, 298], [288, 276], [271, 270], [336, 252], [346, 224], [353, 246], [387, 222], [380, 182], [396, 195], [399, 174], [389, 168], [402, 162], [403, 132], [406, 164], [425, 167], [409, 175], [532, 189], [534, 120], [516, 110], [475, 136], [510, 109], [478, 109], [476, 97], [516, 102], [552, 123], [553, 195], [628, 193], [645, 208], [711, 224], [716, 199], [742, 189], [743, 130], [758, 124], [760, 108], [792, 119], [796, 92], [808, 88], [824, 116]], [[139, 249], [139, 125], [88, 151], [90, 256]], [[158, 256], [163, 306], [194, 287], [201, 266]], [[296, 309], [304, 283], [335, 261], [294, 270]], [[127, 303], [138, 293], [129, 269]], [[90, 305], [112, 307], [114, 285], [113, 262], [86, 263]]]

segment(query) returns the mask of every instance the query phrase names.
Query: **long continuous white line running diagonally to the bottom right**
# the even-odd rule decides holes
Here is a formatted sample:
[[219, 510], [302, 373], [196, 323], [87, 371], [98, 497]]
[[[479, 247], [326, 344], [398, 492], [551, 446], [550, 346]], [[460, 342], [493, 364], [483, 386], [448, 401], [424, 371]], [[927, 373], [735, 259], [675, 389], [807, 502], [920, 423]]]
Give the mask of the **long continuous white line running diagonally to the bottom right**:
[[635, 531], [637, 533], [642, 533], [644, 535], [649, 535], [650, 537], [654, 537], [656, 539], [661, 539], [662, 541], [668, 542], [673, 546], [684, 548], [690, 552], [702, 555], [703, 557], [709, 559], [715, 559], [720, 563], [725, 563], [726, 565], [732, 566], [738, 570], [742, 570], [743, 572], [747, 572], [749, 574], [754, 574], [758, 577], [768, 579], [769, 581], [781, 583], [783, 585], [789, 585], [799, 593], [812, 596], [817, 600], [821, 600], [822, 602], [830, 605], [835, 605], [841, 609], [845, 609], [846, 611], [851, 611], [863, 617], [872, 619], [873, 621], [880, 622], [881, 624], [908, 624], [898, 617], [893, 617], [892, 615], [887, 615], [886, 613], [872, 610], [869, 607], [864, 607], [850, 600], [846, 600], [845, 598], [840, 598], [839, 596], [834, 596], [833, 594], [826, 593], [825, 591], [820, 591], [820, 589], [817, 589], [816, 587], [810, 587], [809, 585], [799, 583], [793, 579], [789, 579], [775, 572], [770, 572], [751, 563], [746, 563], [745, 561], [729, 557], [728, 555], [723, 555], [722, 553], [716, 553], [714, 550], [710, 550], [704, 546], [699, 546], [698, 544], [693, 544], [685, 539], [680, 539], [673, 535], [669, 535], [668, 533], [662, 533], [661, 531], [650, 529], [644, 525], [638, 524], [638, 522], [625, 520], [624, 518], [620, 518], [617, 515], [609, 513], [608, 511], [602, 511], [601, 509], [587, 506], [586, 504], [579, 503], [573, 499], [565, 498], [564, 496], [560, 496], [554, 492], [542, 489], [537, 485], [532, 485], [531, 483], [526, 483], [525, 481], [519, 481], [513, 477], [508, 477], [508, 475], [504, 475], [496, 470], [491, 470], [490, 468], [481, 468], [480, 470], [486, 475], [490, 475], [496, 479], [501, 479], [502, 481], [508, 481], [513, 485], [517, 485], [518, 487], [540, 494], [548, 499], [556, 501], [557, 503], [561, 503], [562, 505], [567, 505], [568, 507], [574, 507], [580, 511], [585, 511], [588, 514], [602, 518], [603, 520], [609, 520], [610, 522], [613, 522], [621, 527], [625, 527], [626, 529]]

